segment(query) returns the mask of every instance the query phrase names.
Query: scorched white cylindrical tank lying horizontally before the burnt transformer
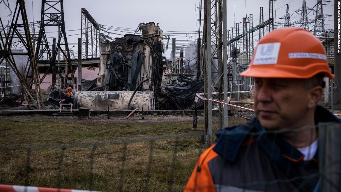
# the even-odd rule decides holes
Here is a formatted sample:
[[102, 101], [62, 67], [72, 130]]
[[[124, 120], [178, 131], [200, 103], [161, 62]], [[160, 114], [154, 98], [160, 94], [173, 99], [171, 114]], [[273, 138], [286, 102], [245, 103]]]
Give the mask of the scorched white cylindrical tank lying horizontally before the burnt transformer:
[[[126, 110], [134, 91], [78, 91], [74, 97], [75, 108], [99, 110]], [[137, 91], [129, 109], [154, 110], [153, 91]]]

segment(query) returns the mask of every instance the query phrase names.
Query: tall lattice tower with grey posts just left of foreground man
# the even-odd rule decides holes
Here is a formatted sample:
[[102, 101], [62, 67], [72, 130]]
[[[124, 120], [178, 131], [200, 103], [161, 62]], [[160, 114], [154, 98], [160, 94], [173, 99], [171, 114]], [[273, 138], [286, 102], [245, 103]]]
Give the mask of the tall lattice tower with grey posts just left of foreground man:
[[[227, 101], [226, 1], [204, 0], [203, 69], [205, 97], [212, 98], [212, 83], [219, 83], [218, 100]], [[217, 63], [218, 66], [214, 66]], [[212, 66], [213, 65], [213, 66]], [[217, 69], [218, 67], [218, 69]], [[217, 73], [218, 72], [218, 73]], [[215, 78], [215, 79], [214, 79]], [[215, 81], [214, 81], [215, 80]], [[223, 93], [224, 92], [224, 93]], [[205, 143], [212, 144], [212, 102], [205, 101]], [[219, 127], [227, 126], [227, 110], [219, 104]]]

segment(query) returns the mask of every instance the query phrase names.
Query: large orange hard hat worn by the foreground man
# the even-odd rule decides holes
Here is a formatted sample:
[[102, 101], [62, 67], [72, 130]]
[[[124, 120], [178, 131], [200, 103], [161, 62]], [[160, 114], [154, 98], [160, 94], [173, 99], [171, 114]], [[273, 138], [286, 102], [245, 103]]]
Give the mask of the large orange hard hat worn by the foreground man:
[[271, 31], [259, 41], [249, 68], [240, 75], [305, 79], [318, 73], [334, 78], [321, 42], [305, 29], [286, 27]]

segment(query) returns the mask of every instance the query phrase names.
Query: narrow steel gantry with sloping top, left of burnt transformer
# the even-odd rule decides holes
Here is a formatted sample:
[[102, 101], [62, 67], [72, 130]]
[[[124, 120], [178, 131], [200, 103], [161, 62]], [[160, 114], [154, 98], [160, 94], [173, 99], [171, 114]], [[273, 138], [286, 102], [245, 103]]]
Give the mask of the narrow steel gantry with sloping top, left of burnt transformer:
[[81, 9], [82, 58], [100, 57], [100, 25], [85, 9]]

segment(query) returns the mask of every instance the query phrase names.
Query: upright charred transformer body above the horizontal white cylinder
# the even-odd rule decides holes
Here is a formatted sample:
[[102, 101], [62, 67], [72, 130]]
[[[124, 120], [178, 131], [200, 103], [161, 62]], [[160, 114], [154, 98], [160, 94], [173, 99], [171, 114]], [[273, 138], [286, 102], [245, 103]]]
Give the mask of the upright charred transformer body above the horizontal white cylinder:
[[162, 79], [162, 30], [154, 23], [140, 24], [142, 36], [126, 34], [115, 41], [102, 43], [97, 87], [106, 91], [154, 91]]

